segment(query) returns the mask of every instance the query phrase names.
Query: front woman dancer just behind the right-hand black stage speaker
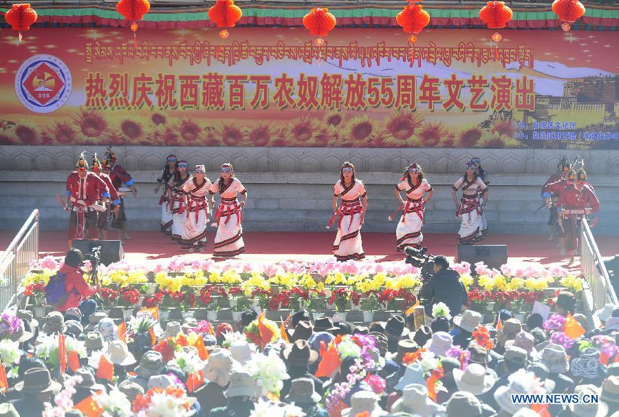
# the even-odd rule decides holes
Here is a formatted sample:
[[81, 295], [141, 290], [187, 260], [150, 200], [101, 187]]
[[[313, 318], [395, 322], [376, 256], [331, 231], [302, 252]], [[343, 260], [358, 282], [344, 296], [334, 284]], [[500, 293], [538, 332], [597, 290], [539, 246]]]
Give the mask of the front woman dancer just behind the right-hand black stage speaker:
[[[456, 217], [460, 217], [460, 231], [458, 239], [460, 244], [468, 245], [484, 239], [480, 231], [481, 208], [479, 206], [478, 193], [484, 195], [484, 200], [488, 202], [488, 187], [481, 178], [475, 173], [475, 164], [468, 162], [464, 165], [466, 174], [458, 178], [453, 184], [451, 195], [456, 205]], [[460, 204], [457, 201], [457, 191], [462, 189]]]

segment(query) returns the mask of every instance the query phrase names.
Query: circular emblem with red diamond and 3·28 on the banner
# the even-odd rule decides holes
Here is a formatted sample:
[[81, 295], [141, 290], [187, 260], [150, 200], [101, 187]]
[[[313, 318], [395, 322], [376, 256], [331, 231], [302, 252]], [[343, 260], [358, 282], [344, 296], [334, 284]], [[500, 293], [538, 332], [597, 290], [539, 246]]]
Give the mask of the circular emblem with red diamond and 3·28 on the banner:
[[53, 55], [32, 56], [21, 64], [15, 76], [17, 98], [35, 113], [52, 113], [63, 107], [72, 85], [69, 68]]

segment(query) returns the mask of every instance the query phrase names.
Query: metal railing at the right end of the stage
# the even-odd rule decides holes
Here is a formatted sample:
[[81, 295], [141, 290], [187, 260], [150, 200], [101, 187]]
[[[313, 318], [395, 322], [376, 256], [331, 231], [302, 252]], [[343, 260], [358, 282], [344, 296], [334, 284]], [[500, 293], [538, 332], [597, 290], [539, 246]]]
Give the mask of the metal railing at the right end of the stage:
[[617, 295], [611, 284], [604, 259], [600, 255], [586, 219], [580, 226], [580, 272], [591, 288], [591, 312], [603, 308], [606, 303], [617, 304]]

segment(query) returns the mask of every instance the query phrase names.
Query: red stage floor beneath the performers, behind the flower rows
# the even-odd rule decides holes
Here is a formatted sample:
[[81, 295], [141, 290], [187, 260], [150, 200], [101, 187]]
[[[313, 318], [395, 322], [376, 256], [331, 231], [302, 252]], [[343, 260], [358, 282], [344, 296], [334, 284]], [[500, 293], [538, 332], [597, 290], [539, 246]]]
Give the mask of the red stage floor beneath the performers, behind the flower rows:
[[[14, 231], [0, 231], [0, 248], [8, 246]], [[115, 235], [111, 233], [110, 239]], [[207, 253], [186, 253], [170, 239], [158, 232], [132, 232], [132, 239], [124, 244], [126, 259], [155, 264], [164, 259], [184, 255], [188, 259], [210, 257], [215, 231], [208, 233]], [[291, 233], [291, 232], [246, 232], [243, 234], [247, 252], [238, 259], [245, 262], [277, 261], [325, 261], [332, 259], [329, 249], [335, 233]], [[363, 233], [363, 248], [367, 259], [375, 261], [396, 261], [404, 256], [395, 252], [395, 235], [392, 233]], [[597, 238], [598, 247], [604, 257], [619, 253], [619, 238], [603, 236]], [[565, 266], [567, 259], [558, 255], [556, 242], [548, 242], [542, 235], [488, 235], [484, 244], [507, 244], [510, 263], [535, 262], [543, 266]], [[41, 257], [61, 256], [66, 251], [64, 231], [41, 232]], [[456, 253], [457, 239], [451, 234], [424, 235], [424, 246], [438, 255], [453, 257]], [[578, 269], [578, 261], [574, 265]]]

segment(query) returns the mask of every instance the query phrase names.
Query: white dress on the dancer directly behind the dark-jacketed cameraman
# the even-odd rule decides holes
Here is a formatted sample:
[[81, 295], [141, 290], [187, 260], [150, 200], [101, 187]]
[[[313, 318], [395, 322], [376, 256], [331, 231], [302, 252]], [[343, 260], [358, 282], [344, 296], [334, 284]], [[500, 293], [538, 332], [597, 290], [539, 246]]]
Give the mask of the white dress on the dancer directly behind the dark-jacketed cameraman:
[[432, 187], [426, 180], [421, 180], [413, 185], [410, 178], [400, 182], [395, 189], [406, 191], [406, 202], [402, 209], [402, 217], [395, 229], [398, 250], [402, 251], [407, 246], [419, 248], [423, 242], [422, 227], [424, 226], [424, 194], [432, 191]]

